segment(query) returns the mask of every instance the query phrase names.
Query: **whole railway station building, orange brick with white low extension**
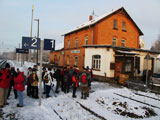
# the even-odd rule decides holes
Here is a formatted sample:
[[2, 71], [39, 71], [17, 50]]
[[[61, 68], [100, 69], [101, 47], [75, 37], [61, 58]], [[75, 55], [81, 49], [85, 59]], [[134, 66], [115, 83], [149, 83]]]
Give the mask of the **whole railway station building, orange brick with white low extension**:
[[[50, 53], [50, 62], [58, 66], [83, 66], [93, 69], [99, 78], [116, 78], [120, 74], [141, 76], [142, 71], [154, 71], [154, 59], [159, 52], [141, 48], [143, 32], [124, 7], [77, 26], [64, 34], [64, 48]], [[145, 56], [151, 59], [147, 60]], [[141, 72], [135, 72], [141, 71]]]

